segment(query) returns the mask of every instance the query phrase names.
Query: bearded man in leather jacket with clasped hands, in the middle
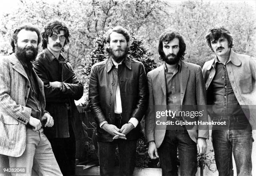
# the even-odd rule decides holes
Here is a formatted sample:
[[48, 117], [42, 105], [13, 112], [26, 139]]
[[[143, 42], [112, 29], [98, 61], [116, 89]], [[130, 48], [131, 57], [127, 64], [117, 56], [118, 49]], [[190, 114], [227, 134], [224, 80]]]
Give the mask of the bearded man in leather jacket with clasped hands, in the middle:
[[130, 35], [123, 27], [108, 31], [108, 59], [92, 66], [89, 84], [90, 109], [97, 122], [96, 138], [100, 175], [113, 175], [115, 149], [119, 174], [130, 176], [136, 160], [136, 140], [147, 106], [144, 66], [127, 55]]

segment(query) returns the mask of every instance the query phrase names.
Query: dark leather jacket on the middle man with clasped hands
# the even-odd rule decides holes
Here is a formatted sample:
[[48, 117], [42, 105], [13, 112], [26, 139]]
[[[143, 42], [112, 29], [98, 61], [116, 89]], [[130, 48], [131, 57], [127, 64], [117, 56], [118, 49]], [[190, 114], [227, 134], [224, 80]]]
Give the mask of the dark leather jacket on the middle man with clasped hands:
[[[115, 91], [111, 58], [92, 66], [89, 83], [90, 109], [97, 122], [96, 137], [98, 141], [113, 141], [113, 136], [100, 128], [100, 122], [106, 120], [108, 124], [115, 124]], [[118, 65], [118, 83], [122, 103], [122, 119], [120, 127], [128, 123], [131, 117], [139, 122], [147, 108], [146, 72], [141, 62], [126, 57]], [[126, 134], [127, 140], [136, 140], [141, 136], [140, 123], [135, 129]]]

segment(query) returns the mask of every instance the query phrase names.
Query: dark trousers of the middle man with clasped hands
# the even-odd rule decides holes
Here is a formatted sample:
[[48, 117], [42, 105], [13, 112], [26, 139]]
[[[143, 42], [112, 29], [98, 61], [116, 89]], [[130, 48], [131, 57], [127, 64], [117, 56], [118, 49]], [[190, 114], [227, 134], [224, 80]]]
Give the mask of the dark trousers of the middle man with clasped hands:
[[116, 146], [118, 146], [119, 153], [119, 175], [131, 176], [136, 160], [136, 140], [128, 141], [123, 139], [115, 139], [112, 142], [98, 141], [100, 175], [113, 176]]

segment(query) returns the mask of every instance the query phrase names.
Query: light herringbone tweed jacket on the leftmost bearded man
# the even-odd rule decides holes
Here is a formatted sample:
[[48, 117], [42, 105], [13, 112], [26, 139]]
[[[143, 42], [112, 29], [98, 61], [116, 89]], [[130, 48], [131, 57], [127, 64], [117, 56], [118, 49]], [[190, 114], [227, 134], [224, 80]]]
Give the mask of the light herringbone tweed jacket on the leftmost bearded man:
[[[32, 72], [34, 70], [32, 69]], [[35, 72], [34, 72], [35, 73]], [[36, 75], [36, 74], [34, 74]], [[44, 84], [39, 84], [42, 115], [45, 109]], [[12, 54], [0, 58], [0, 154], [18, 157], [26, 148], [26, 124], [31, 109], [26, 107], [31, 83], [25, 69]]]

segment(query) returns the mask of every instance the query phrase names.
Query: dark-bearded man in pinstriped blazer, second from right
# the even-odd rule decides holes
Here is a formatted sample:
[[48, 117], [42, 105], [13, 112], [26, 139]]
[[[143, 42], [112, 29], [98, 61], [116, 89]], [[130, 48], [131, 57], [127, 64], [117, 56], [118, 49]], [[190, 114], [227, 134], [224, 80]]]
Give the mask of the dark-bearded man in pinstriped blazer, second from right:
[[[164, 111], [206, 112], [202, 116], [179, 117], [174, 124], [191, 120], [207, 121], [206, 90], [199, 65], [184, 62], [186, 44], [182, 35], [167, 31], [159, 38], [159, 54], [164, 60], [160, 67], [148, 72], [148, 112], [146, 115], [146, 137], [149, 143], [148, 154], [151, 159], [159, 158], [163, 176], [177, 176], [177, 147], [179, 149], [180, 175], [194, 176], [197, 172], [197, 154], [204, 154], [209, 137], [208, 126], [195, 123], [187, 125], [166, 125], [168, 114], [157, 117], [156, 109]], [[182, 106], [181, 106], [182, 105]], [[190, 106], [189, 106], [190, 105]], [[159, 119], [160, 120], [159, 120]]]

